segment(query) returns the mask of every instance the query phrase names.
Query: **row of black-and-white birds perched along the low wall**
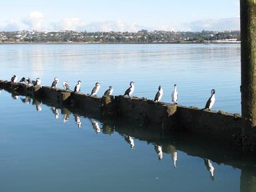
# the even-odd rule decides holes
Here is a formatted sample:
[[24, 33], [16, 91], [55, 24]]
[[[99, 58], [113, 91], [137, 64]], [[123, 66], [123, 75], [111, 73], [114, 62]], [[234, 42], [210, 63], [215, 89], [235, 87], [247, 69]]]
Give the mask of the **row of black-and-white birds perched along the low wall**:
[[[11, 81], [13, 83], [16, 83], [17, 78], [18, 77], [16, 75], [13, 75], [13, 77], [11, 77]], [[31, 79], [29, 77], [23, 77], [21, 79], [21, 81], [19, 81], [19, 82], [24, 82], [26, 85], [33, 85], [33, 86], [41, 84], [41, 80], [39, 78], [37, 78], [35, 81], [31, 81]], [[59, 79], [57, 77], [55, 77], [53, 83], [51, 84], [51, 87], [55, 88], [58, 83], [59, 83]], [[135, 82], [133, 82], [133, 81], [130, 82], [130, 87], [125, 91], [124, 96], [131, 97], [131, 95], [133, 94], [133, 91], [134, 91], [134, 83]], [[65, 90], [70, 90], [70, 87], [69, 87], [69, 84], [67, 83], [67, 81], [63, 81], [62, 85]], [[74, 92], [75, 93], [81, 92], [80, 87], [81, 87], [81, 81], [77, 81], [77, 85], [75, 85]], [[96, 83], [95, 87], [93, 87], [93, 90], [91, 90], [90, 96], [96, 96], [100, 87], [101, 87], [101, 84]], [[113, 88], [112, 88], [112, 86], [109, 86], [109, 89], [107, 89], [107, 91], [105, 91], [104, 95], [112, 95], [112, 94], [113, 94]], [[159, 102], [162, 97], [163, 97], [163, 89], [162, 89], [161, 85], [159, 85], [157, 94], [155, 95], [154, 102]], [[174, 85], [173, 92], [171, 93], [171, 99], [172, 99], [173, 103], [177, 104], [178, 92], [177, 92], [176, 84]], [[204, 109], [210, 110], [211, 107], [213, 107], [214, 103], [215, 103], [215, 89], [211, 89], [211, 97], [209, 97], [209, 99], [207, 100], [207, 103], [205, 105], [205, 108], [203, 108], [202, 110], [204, 110]]]

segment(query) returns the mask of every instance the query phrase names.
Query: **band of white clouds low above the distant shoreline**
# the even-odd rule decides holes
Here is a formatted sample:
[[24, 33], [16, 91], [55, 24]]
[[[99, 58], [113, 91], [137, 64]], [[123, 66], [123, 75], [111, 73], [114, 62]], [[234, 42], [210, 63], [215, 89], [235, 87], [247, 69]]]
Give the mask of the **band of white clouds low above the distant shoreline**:
[[76, 18], [65, 18], [59, 22], [47, 23], [43, 13], [32, 11], [23, 19], [12, 21], [1, 21], [0, 31], [22, 31], [22, 30], [73, 30], [73, 31], [130, 31], [136, 32], [141, 29], [148, 31], [223, 31], [223, 30], [239, 30], [239, 17], [224, 18], [224, 19], [205, 19], [193, 21], [191, 23], [182, 23], [181, 25], [159, 25], [154, 27], [145, 27], [137, 25], [137, 23], [125, 23], [118, 21], [103, 21], [86, 23], [85, 21]]

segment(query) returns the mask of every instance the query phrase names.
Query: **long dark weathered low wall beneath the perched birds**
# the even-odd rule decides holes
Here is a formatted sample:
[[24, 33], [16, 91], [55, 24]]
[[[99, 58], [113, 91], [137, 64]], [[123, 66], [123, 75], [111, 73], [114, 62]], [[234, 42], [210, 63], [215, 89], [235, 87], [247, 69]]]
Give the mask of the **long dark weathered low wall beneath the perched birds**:
[[95, 117], [121, 117], [133, 119], [141, 125], [153, 123], [161, 131], [192, 131], [211, 137], [234, 140], [241, 135], [242, 121], [239, 115], [222, 111], [201, 111], [197, 107], [185, 107], [169, 103], [154, 103], [145, 98], [103, 96], [90, 97], [47, 86], [27, 86], [23, 83], [0, 81], [0, 89], [16, 95], [43, 98], [59, 106], [70, 106]]

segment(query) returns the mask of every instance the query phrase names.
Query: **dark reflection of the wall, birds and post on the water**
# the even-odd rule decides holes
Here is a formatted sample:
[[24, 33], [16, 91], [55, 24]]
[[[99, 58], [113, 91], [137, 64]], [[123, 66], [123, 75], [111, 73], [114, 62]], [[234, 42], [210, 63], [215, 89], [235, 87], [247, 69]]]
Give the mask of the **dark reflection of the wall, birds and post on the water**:
[[[197, 135], [195, 133], [163, 133], [154, 127], [155, 125], [138, 125], [129, 119], [101, 119], [98, 114], [79, 111], [70, 106], [61, 107], [51, 101], [34, 99], [29, 96], [18, 96], [11, 93], [15, 100], [20, 99], [23, 103], [35, 105], [36, 111], [41, 111], [41, 105], [47, 105], [53, 113], [55, 119], [62, 118], [63, 123], [70, 118], [75, 119], [78, 128], [81, 128], [81, 117], [86, 117], [91, 121], [95, 133], [112, 135], [119, 133], [127, 142], [131, 149], [136, 147], [135, 139], [145, 141], [153, 145], [156, 158], [161, 161], [165, 155], [171, 155], [173, 167], [179, 167], [179, 151], [187, 155], [202, 159], [202, 166], [209, 171], [209, 179], [215, 179], [215, 167], [213, 162], [218, 165], [230, 165], [241, 170], [240, 191], [256, 191], [256, 154], [243, 153], [239, 147], [234, 146], [228, 141], [216, 140], [210, 137]], [[204, 162], [204, 165], [203, 165]]]

